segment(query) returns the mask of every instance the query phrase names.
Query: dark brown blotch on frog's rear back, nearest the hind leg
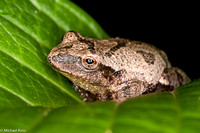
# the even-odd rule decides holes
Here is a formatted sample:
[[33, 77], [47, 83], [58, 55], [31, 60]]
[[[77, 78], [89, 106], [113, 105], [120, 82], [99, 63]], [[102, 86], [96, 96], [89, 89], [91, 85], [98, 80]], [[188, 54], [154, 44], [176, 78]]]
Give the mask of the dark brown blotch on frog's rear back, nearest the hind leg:
[[142, 50], [137, 51], [137, 53], [141, 54], [144, 58], [144, 60], [146, 61], [146, 63], [148, 63], [149, 65], [153, 65], [155, 62], [155, 57], [153, 54], [151, 53], [146, 53]]

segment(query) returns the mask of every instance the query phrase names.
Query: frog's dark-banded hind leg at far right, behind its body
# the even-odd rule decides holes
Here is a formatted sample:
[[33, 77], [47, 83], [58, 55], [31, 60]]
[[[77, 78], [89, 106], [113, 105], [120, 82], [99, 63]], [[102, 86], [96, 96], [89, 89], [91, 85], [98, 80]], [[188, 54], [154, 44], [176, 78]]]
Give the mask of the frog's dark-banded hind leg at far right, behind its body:
[[177, 67], [166, 68], [161, 75], [156, 90], [173, 90], [188, 82], [190, 82], [190, 78], [181, 69]]

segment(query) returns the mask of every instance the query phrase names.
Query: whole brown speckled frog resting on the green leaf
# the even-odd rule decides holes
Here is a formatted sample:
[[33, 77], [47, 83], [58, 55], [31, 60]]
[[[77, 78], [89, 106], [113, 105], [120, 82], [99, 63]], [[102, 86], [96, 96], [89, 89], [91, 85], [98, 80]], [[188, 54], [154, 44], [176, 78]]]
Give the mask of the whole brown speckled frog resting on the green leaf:
[[83, 101], [123, 102], [190, 82], [166, 53], [142, 41], [95, 39], [69, 31], [48, 55], [49, 64], [74, 84]]

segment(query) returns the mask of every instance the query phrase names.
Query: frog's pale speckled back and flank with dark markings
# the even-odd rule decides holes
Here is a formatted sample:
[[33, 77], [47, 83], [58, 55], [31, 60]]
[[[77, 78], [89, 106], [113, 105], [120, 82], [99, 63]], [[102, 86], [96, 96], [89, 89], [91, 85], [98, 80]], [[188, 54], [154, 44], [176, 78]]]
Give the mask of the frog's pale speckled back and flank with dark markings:
[[126, 71], [127, 80], [132, 78], [155, 85], [164, 69], [170, 67], [166, 54], [150, 44], [121, 38], [110, 40], [115, 43], [103, 54], [102, 64], [115, 71]]

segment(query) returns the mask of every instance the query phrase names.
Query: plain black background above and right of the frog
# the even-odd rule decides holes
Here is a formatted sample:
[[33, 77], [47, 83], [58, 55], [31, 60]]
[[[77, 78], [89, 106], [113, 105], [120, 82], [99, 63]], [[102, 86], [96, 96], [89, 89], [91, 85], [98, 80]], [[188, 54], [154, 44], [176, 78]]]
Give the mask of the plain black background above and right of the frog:
[[183, 69], [193, 80], [200, 77], [198, 3], [72, 1], [111, 37], [153, 44], [167, 53], [173, 66]]

